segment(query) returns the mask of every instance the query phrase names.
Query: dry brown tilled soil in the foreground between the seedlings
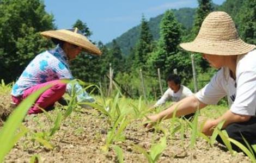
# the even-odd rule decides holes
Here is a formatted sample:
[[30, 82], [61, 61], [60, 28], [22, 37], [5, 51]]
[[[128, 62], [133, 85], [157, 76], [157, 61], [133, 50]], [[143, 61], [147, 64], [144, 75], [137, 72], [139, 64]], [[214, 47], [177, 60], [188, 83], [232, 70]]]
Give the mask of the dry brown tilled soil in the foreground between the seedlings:
[[[57, 115], [60, 109], [50, 111]], [[64, 112], [64, 111], [62, 111]], [[54, 118], [53, 118], [54, 120]], [[162, 122], [167, 123], [166, 122]], [[46, 115], [28, 116], [23, 122], [29, 130], [39, 132], [50, 129]], [[167, 124], [168, 126], [168, 124]], [[35, 154], [42, 162], [118, 162], [117, 154], [112, 147], [108, 152], [102, 151], [105, 145], [109, 124], [107, 117], [96, 110], [72, 112], [50, 142], [53, 149], [40, 146], [29, 140], [29, 134], [16, 143], [5, 162], [29, 162]], [[124, 131], [125, 141], [114, 142], [121, 147], [125, 162], [147, 162], [145, 156], [139, 153], [133, 145], [139, 145], [147, 150], [152, 145], [153, 138], [159, 139], [163, 134], [147, 131], [141, 120], [135, 120]], [[167, 137], [167, 148], [158, 162], [251, 162], [243, 153], [231, 155], [217, 143], [211, 147], [206, 141], [197, 139], [196, 146], [190, 148], [190, 132], [186, 132], [184, 140], [177, 133]]]

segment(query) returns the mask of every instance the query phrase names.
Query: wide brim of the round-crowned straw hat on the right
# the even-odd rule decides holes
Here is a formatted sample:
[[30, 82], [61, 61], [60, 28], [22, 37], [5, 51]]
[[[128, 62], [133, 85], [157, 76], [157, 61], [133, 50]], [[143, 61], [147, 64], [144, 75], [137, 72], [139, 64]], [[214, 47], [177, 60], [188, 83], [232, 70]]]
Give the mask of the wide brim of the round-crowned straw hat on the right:
[[256, 48], [255, 45], [245, 43], [241, 39], [217, 42], [197, 39], [193, 42], [181, 43], [180, 46], [186, 51], [212, 55], [241, 55]]

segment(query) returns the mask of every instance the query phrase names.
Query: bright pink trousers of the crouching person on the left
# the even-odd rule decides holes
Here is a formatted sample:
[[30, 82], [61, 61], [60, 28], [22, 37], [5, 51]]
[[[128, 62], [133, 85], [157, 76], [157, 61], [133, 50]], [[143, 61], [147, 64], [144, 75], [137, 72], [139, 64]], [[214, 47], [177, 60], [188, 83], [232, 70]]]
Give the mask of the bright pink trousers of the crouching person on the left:
[[38, 84], [25, 90], [23, 95], [19, 97], [12, 96], [13, 102], [17, 105], [21, 103], [23, 99], [31, 95], [33, 92], [39, 90], [48, 84], [53, 86], [42, 93], [38, 99], [36, 99], [35, 104], [28, 110], [28, 114], [38, 114], [42, 112], [42, 109], [48, 111], [48, 107], [53, 106], [56, 101], [58, 101], [64, 95], [66, 91], [66, 84], [60, 82], [60, 80], [52, 80], [50, 82]]

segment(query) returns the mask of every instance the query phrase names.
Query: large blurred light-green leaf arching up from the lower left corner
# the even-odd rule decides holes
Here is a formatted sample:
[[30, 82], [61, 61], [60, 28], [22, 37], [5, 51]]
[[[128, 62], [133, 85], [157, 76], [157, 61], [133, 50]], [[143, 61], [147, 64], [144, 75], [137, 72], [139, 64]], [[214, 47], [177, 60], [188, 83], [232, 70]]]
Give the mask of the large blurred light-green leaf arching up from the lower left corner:
[[0, 131], [0, 162], [3, 161], [4, 156], [10, 151], [15, 145], [17, 138], [15, 137], [16, 130], [20, 127], [23, 118], [27, 115], [27, 111], [36, 99], [41, 95], [42, 92], [50, 88], [52, 85], [47, 85], [42, 87], [32, 95], [28, 96], [24, 101], [20, 103], [19, 106], [13, 111], [9, 116], [8, 120], [5, 122], [3, 128]]

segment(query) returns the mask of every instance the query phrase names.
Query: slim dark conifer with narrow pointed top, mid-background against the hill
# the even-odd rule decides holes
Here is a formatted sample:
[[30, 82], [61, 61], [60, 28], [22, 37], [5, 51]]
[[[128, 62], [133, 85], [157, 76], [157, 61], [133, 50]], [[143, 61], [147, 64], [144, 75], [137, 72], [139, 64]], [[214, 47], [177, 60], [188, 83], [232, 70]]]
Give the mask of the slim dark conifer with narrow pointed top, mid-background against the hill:
[[152, 41], [153, 36], [149, 30], [148, 21], [145, 20], [144, 15], [142, 15], [141, 33], [139, 35], [139, 40], [136, 45], [134, 67], [143, 69], [145, 68], [145, 64], [148, 60], [148, 55], [153, 51], [151, 44]]

